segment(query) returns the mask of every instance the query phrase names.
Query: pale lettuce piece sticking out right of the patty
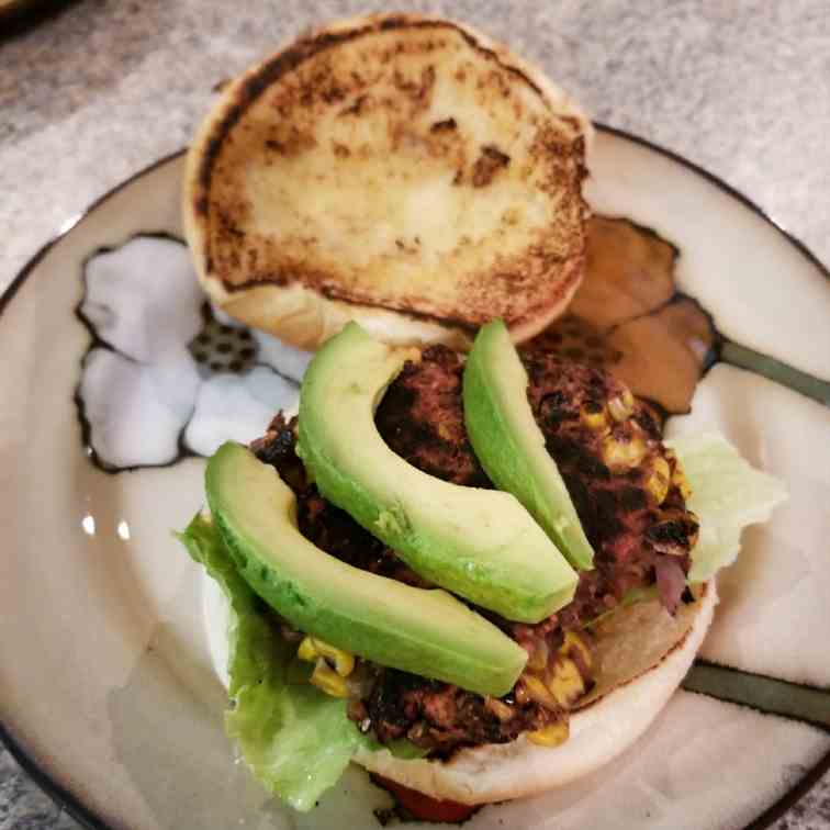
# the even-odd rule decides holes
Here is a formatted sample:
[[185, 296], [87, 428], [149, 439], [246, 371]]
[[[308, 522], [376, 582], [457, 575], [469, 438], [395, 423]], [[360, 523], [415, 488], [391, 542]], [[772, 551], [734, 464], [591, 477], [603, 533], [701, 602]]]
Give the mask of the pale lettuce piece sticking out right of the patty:
[[692, 487], [688, 507], [700, 519], [692, 550], [691, 583], [705, 582], [732, 564], [741, 530], [766, 521], [787, 497], [784, 482], [752, 468], [724, 436], [708, 433], [665, 442], [677, 453]]

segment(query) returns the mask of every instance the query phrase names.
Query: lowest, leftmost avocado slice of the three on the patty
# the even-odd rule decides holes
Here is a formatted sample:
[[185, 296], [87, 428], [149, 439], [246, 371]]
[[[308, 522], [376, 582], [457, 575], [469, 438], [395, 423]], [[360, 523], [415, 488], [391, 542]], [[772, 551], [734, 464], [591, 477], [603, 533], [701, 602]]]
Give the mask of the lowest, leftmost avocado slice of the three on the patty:
[[208, 503], [239, 574], [292, 626], [381, 665], [501, 696], [527, 652], [440, 590], [352, 568], [296, 525], [294, 494], [249, 450], [224, 444], [208, 462]]

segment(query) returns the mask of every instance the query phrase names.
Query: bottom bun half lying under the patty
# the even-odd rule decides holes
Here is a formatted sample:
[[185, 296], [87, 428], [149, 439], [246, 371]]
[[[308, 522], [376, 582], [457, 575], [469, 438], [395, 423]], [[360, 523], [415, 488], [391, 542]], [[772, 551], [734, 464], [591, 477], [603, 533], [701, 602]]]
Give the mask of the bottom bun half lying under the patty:
[[404, 761], [389, 750], [361, 750], [355, 760], [433, 798], [470, 805], [534, 795], [583, 777], [628, 749], [660, 714], [692, 665], [716, 604], [713, 581], [671, 624], [658, 601], [612, 615], [597, 632], [597, 688], [571, 715], [571, 734], [559, 747], [540, 747], [523, 734], [511, 743], [461, 750], [449, 761]]

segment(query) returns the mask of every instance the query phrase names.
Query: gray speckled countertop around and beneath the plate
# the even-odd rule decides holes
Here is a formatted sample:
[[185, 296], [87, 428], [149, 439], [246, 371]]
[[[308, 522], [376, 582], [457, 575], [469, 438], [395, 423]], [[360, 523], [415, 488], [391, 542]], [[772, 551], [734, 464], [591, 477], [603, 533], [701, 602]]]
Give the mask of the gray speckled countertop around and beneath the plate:
[[[542, 64], [593, 115], [669, 147], [830, 262], [827, 0], [456, 0], [444, 10]], [[0, 290], [92, 200], [187, 143], [213, 86], [315, 21], [325, 0], [85, 0], [0, 22]], [[0, 753], [0, 830], [78, 827]], [[830, 827], [830, 774], [775, 826]]]

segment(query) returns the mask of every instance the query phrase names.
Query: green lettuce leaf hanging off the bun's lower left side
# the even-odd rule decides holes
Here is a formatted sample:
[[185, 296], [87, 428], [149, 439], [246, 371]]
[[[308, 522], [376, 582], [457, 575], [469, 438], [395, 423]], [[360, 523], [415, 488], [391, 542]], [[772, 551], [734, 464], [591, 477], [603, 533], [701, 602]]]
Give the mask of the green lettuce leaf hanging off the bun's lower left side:
[[346, 700], [287, 682], [291, 649], [238, 575], [210, 518], [197, 515], [178, 537], [231, 604], [227, 733], [270, 792], [298, 810], [310, 810], [337, 783], [357, 748], [372, 748], [374, 741], [349, 720]]

